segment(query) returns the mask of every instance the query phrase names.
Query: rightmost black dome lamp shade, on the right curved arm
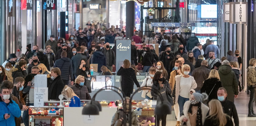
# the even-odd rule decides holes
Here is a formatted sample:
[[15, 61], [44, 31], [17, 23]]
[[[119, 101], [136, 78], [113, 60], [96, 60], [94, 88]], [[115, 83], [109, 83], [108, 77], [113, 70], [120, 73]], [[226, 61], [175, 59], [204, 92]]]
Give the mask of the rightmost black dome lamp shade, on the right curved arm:
[[162, 114], [171, 114], [171, 107], [167, 103], [160, 103], [157, 104], [155, 107], [155, 114], [162, 115]]

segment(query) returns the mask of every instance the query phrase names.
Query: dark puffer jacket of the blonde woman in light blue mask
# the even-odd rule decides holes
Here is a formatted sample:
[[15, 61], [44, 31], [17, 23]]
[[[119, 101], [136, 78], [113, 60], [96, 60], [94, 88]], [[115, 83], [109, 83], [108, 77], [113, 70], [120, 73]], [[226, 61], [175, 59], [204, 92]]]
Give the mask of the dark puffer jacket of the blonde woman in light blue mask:
[[75, 84], [71, 86], [74, 93], [80, 98], [80, 100], [91, 100], [91, 96], [88, 92], [88, 89], [86, 86], [80, 86], [79, 84]]

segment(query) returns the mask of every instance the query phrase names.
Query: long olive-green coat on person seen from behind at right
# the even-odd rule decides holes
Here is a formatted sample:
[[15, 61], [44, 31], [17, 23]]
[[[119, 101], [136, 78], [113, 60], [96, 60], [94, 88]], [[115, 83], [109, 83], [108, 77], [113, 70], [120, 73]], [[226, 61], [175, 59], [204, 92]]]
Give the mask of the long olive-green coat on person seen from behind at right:
[[238, 95], [238, 82], [235, 72], [229, 65], [221, 65], [219, 67], [219, 77], [222, 86], [227, 90], [227, 99], [234, 102], [234, 95]]

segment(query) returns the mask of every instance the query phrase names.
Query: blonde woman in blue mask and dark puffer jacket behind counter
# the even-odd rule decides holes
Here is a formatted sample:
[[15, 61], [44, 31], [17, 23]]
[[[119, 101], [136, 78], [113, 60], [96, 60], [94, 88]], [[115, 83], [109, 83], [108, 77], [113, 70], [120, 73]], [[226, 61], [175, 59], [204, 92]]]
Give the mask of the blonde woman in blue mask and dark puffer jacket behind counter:
[[75, 79], [75, 84], [70, 88], [73, 89], [74, 93], [79, 96], [81, 100], [91, 100], [91, 95], [88, 92], [87, 87], [84, 85], [84, 76], [78, 75]]

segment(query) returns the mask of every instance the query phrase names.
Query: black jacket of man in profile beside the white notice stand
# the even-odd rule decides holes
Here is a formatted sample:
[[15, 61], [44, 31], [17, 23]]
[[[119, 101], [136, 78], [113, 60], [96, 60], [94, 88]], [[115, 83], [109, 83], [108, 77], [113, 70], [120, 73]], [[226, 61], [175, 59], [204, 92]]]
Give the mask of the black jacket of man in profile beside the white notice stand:
[[64, 88], [64, 83], [60, 76], [57, 76], [48, 87], [48, 99], [59, 100], [59, 95]]

